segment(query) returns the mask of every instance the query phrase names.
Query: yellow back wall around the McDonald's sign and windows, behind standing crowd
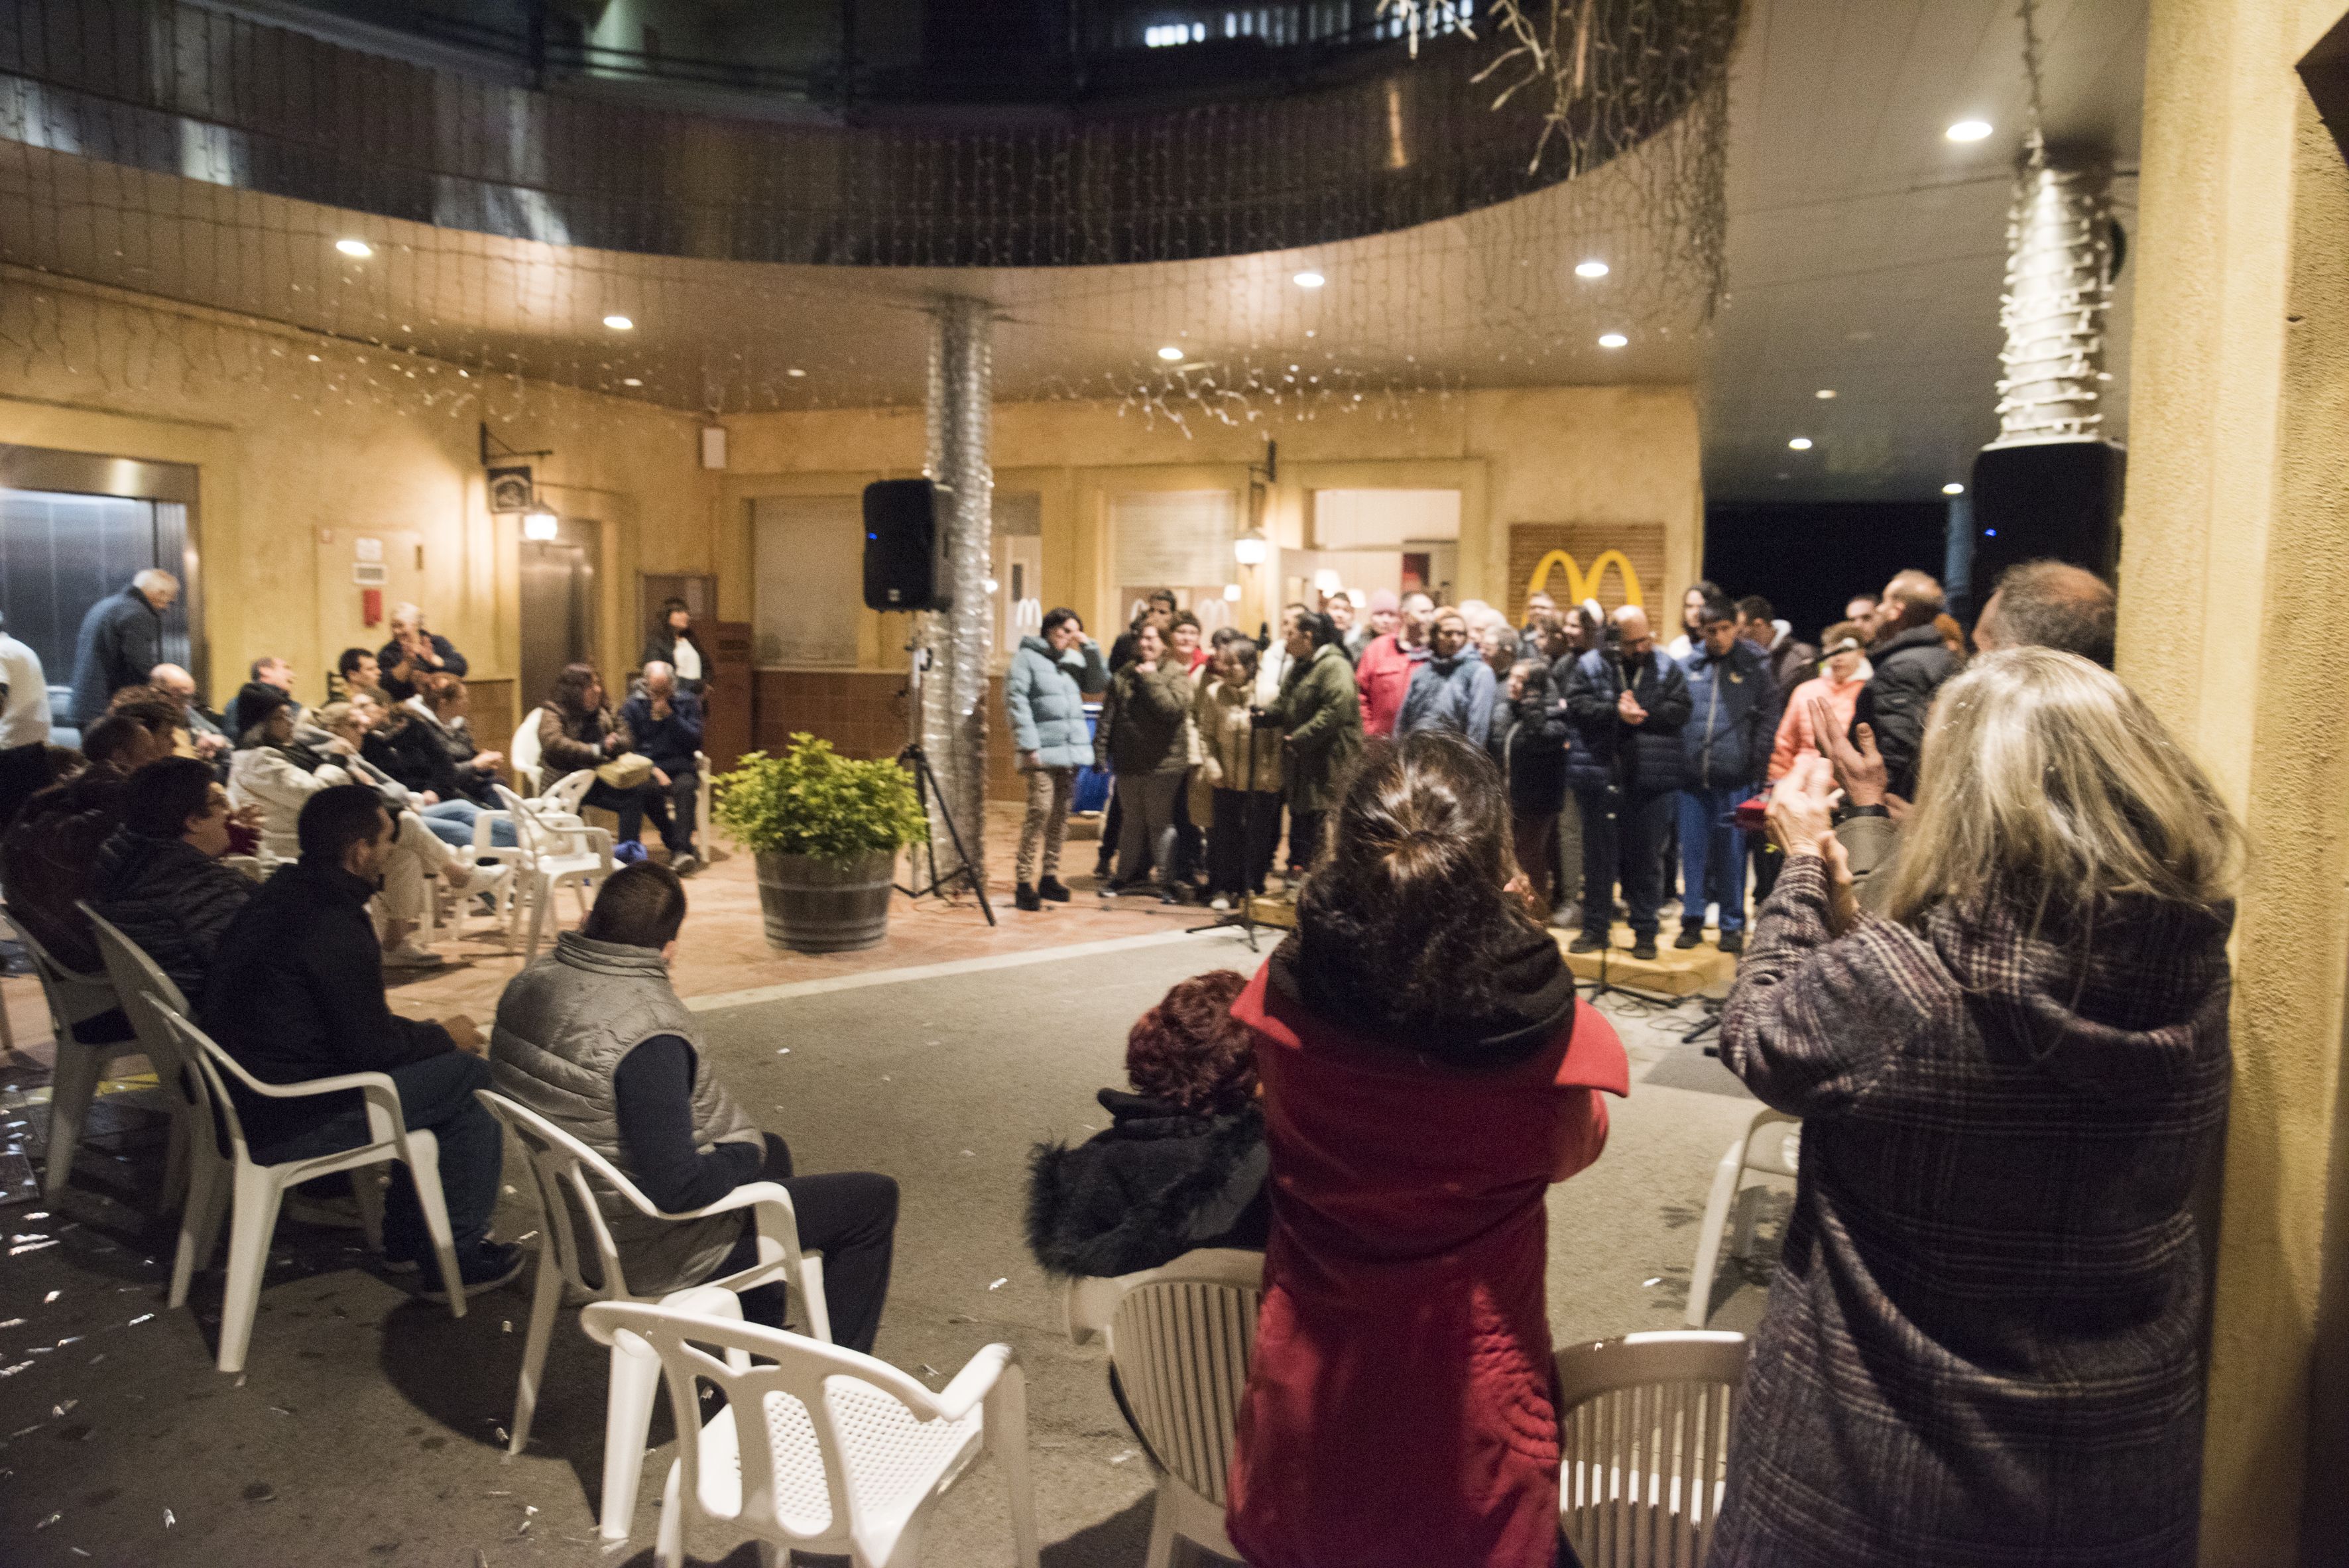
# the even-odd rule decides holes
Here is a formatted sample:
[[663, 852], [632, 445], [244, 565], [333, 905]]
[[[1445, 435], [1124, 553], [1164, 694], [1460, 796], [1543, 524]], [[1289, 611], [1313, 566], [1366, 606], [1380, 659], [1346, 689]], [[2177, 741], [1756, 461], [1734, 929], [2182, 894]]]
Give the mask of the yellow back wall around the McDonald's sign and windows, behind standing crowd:
[[[1651, 601], [1696, 577], [1703, 538], [1703, 484], [1696, 399], [1687, 387], [1532, 387], [1405, 399], [1402, 413], [1268, 418], [1226, 427], [1196, 423], [1191, 434], [1146, 425], [1111, 404], [998, 404], [994, 465], [998, 491], [1034, 491], [1043, 505], [1043, 599], [1076, 608], [1097, 631], [1116, 613], [1109, 580], [1109, 498], [1132, 491], [1247, 491], [1247, 467], [1264, 439], [1280, 441], [1280, 481], [1266, 495], [1266, 530], [1285, 549], [1306, 547], [1306, 498], [1332, 486], [1461, 491], [1456, 596], [1508, 599], [1508, 526], [1623, 521], [1665, 526], [1668, 584], [1644, 584]], [[848, 495], [871, 479], [921, 469], [923, 415], [904, 408], [752, 413], [726, 420], [728, 472], [716, 502], [719, 608], [747, 620], [752, 584], [749, 500], [756, 495]], [[1278, 554], [1261, 568], [1233, 568], [1243, 584], [1240, 624], [1266, 615], [1278, 594]], [[883, 624], [890, 622], [890, 624]], [[902, 617], [867, 615], [860, 667], [893, 669]]]

